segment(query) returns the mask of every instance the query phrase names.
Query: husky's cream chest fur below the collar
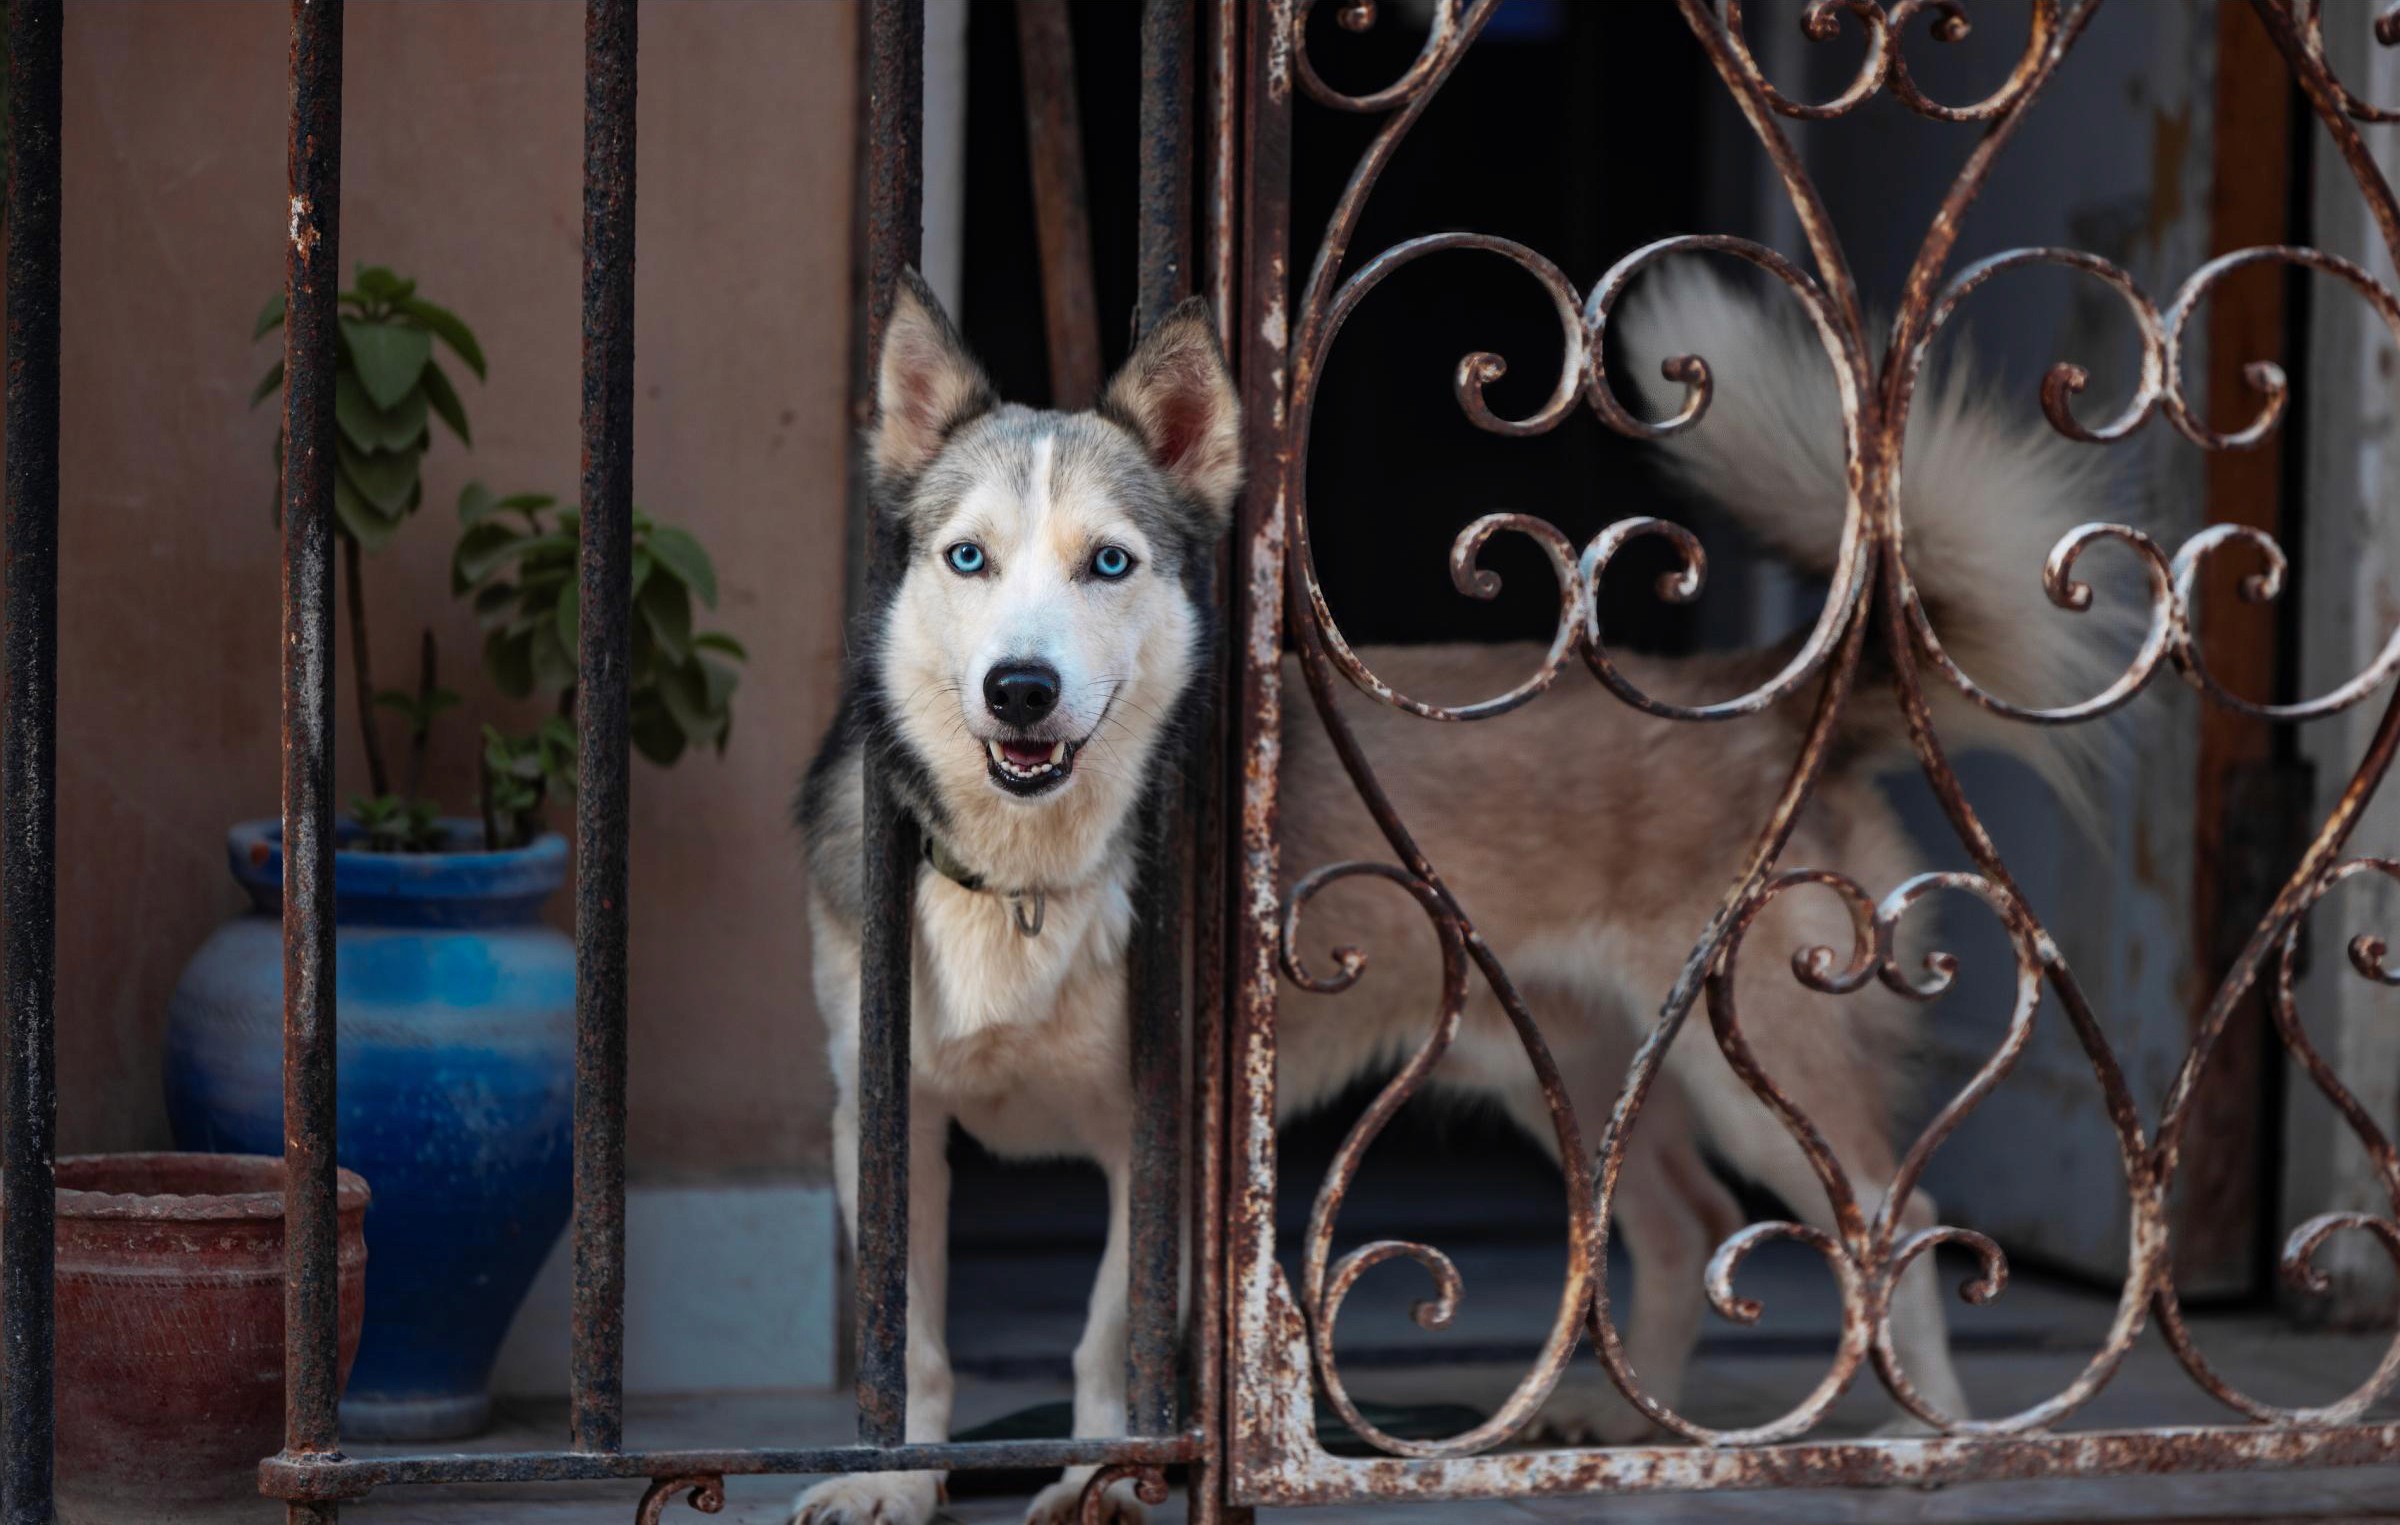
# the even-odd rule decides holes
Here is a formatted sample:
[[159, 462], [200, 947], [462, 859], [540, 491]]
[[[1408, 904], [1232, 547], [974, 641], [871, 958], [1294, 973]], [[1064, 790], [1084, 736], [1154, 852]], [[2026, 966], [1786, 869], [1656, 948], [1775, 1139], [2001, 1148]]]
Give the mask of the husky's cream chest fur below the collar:
[[1008, 901], [938, 874], [917, 884], [917, 1086], [986, 1148], [1080, 1153], [1094, 1098], [1126, 1093], [1126, 939], [1130, 865], [1051, 893], [1042, 934], [1015, 927]]

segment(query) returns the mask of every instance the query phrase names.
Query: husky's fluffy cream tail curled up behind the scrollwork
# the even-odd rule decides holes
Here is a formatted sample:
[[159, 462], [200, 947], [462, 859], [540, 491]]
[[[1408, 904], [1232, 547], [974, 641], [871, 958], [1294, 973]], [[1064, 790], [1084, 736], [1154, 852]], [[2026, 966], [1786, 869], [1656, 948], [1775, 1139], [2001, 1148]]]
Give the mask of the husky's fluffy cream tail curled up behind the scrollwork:
[[[1774, 293], [1762, 303], [1706, 267], [1678, 262], [1634, 293], [1618, 331], [1651, 418], [1682, 401], [1682, 387], [1658, 375], [1663, 358], [1709, 363], [1709, 413], [1668, 442], [1673, 473], [1800, 572], [1831, 572], [1848, 502], [1841, 413], [1831, 360], [1798, 300]], [[2014, 704], [2098, 694], [2124, 670], [2141, 629], [2143, 608], [2105, 579], [2090, 612], [2069, 612], [2042, 588], [2042, 564], [2066, 531], [2124, 516], [2102, 456], [2052, 430], [2030, 399], [2014, 403], [1975, 384], [1966, 363], [1927, 367], [1918, 384], [1901, 454], [1908, 572], [1951, 660]], [[2126, 557], [2100, 550], [2076, 574], [2093, 581], [2100, 562], [2122, 567]], [[1882, 641], [1882, 620], [1870, 641]], [[1918, 672], [1951, 749], [2014, 752], [2078, 814], [2090, 807], [2100, 728], [2006, 720], [1925, 663]], [[1858, 740], [1906, 747], [1886, 692], [1862, 682], [1848, 708]]]

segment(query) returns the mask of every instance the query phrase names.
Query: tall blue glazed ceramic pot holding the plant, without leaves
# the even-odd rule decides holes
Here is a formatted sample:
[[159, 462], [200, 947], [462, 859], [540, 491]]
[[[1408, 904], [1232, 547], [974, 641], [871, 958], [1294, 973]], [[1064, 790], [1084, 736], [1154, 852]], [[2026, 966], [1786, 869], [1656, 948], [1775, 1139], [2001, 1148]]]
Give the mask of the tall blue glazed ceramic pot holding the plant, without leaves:
[[[168, 1114], [180, 1148], [281, 1155], [283, 824], [235, 826], [228, 857], [252, 910], [175, 987]], [[374, 1191], [367, 1323], [341, 1403], [353, 1439], [482, 1429], [492, 1359], [566, 1225], [576, 951], [540, 922], [564, 881], [559, 836], [334, 855], [338, 1153]]]

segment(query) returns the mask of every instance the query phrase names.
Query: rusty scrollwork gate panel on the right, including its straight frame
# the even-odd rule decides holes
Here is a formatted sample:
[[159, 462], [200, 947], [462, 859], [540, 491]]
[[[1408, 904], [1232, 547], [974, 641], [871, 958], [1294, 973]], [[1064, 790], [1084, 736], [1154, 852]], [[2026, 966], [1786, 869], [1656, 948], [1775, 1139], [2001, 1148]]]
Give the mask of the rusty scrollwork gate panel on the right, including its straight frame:
[[[1325, 2], [1334, 10], [1339, 26], [1349, 31], [1378, 24], [1373, 0], [1346, 0], [1337, 7], [1334, 0]], [[2239, 1391], [2210, 1364], [2186, 1323], [2172, 1278], [2172, 1220], [2167, 1210], [2167, 1194], [2177, 1182], [2179, 1158], [2191, 1134], [2194, 1098], [2210, 1066], [2210, 1054], [2222, 1047], [2220, 1035], [2230, 1013], [2258, 987], [2268, 997], [2273, 1028], [2290, 1061], [2316, 1083], [2347, 1129], [2364, 1143], [2383, 1194], [2390, 1198], [2388, 1210], [2328, 1213], [2297, 1225], [2282, 1246], [2285, 1278], [2294, 1285], [2311, 1285], [2321, 1275], [2316, 1254], [2335, 1234], [2366, 1234], [2400, 1256], [2400, 1167], [2395, 1167], [2390, 1141], [2311, 1047], [2294, 1009], [2294, 961], [2302, 922], [2311, 908], [2357, 877], [2400, 877], [2400, 862], [2345, 855], [2345, 843], [2383, 783], [2395, 749], [2400, 749], [2400, 699], [2383, 694], [2393, 675], [2400, 672], [2400, 632], [2381, 636], [2381, 651], [2369, 665], [2330, 692], [2297, 704], [2258, 704], [2230, 692], [2203, 663], [2196, 636], [2198, 588], [2203, 586], [2203, 562], [2220, 555], [2227, 560], [2246, 557], [2256, 574], [2249, 576], [2244, 593], [2254, 600], [2273, 598], [2285, 576], [2285, 557], [2273, 538], [2246, 526], [2210, 526], [2177, 548], [2126, 526], [2083, 526], [2057, 545], [2047, 569], [2028, 567], [2026, 574], [2040, 574], [2050, 598], [2062, 608], [2081, 608], [2090, 591], [2074, 579], [2076, 557], [2095, 543], [2114, 543], [2136, 555], [2146, 574], [2150, 596], [2146, 634], [2129, 665], [2102, 692], [2064, 708], [2016, 706], [1987, 694], [1970, 675], [1961, 672], [1925, 622], [1910, 569], [1901, 557], [1906, 526], [1896, 490], [1903, 427], [1927, 351], [1961, 300], [2002, 271], [2064, 267], [2076, 279], [2105, 286], [2110, 298], [2134, 317], [2141, 334], [2138, 384], [2114, 418], [2090, 423], [2074, 413], [2074, 396], [2083, 379], [2071, 365], [2052, 367], [2042, 387], [2042, 411], [2050, 425], [2093, 444], [2124, 439], [2143, 425], [2153, 425], [2158, 415], [2165, 415], [2165, 427], [2203, 451], [2256, 444], [2280, 425], [2287, 387], [2273, 365], [2249, 370], [2258, 411], [2230, 432], [2210, 427], [2203, 408], [2186, 394], [2184, 358], [2191, 348], [2186, 324], [2194, 310], [2239, 269], [2266, 264], [2330, 276], [2364, 298], [2395, 334], [2400, 334], [2400, 298], [2350, 259], [2287, 245], [2246, 247], [2208, 259], [2191, 269], [2189, 279], [2165, 300], [2146, 293], [2119, 264], [2069, 247], [2023, 247], [1951, 269], [1961, 216], [1975, 204], [1994, 161], [2009, 151], [2011, 134], [2028, 108], [2074, 53], [2076, 41], [2100, 10], [2098, 0], [2033, 0], [2028, 31], [2009, 77], [1987, 96], [1966, 103], [1930, 98], [1910, 74], [1906, 55], [1906, 48], [1922, 41], [1927, 31], [1934, 41], [1963, 36], [1958, 5], [1944, 0], [1898, 0], [1894, 5], [1817, 0], [1807, 5], [1800, 19], [1810, 36], [1819, 41], [1838, 31], [1862, 36], [1862, 62], [1831, 98], [1795, 101], [1769, 82], [1754, 58], [1740, 0], [1673, 2], [1716, 79], [1730, 91], [1740, 115], [1757, 134], [1759, 151], [1798, 214], [1798, 228], [1807, 245], [1805, 267], [1764, 245], [1726, 235], [1666, 238], [1637, 247], [1601, 274], [1589, 291], [1574, 288], [1541, 252], [1495, 235], [1433, 233], [1361, 257], [1358, 250], [1351, 250], [1351, 235], [1361, 226], [1380, 175], [1471, 50], [1478, 31], [1490, 22], [1493, 0], [1435, 2], [1430, 29], [1416, 58], [1397, 79], [1368, 94], [1334, 89], [1310, 60], [1313, 38], [1322, 38], [1318, 46], [1325, 48], [1337, 46], [1342, 36], [1330, 26], [1310, 31], [1315, 0], [1267, 0], [1246, 10], [1238, 67], [1234, 53], [1219, 48], [1217, 98], [1231, 98], [1234, 86], [1238, 86], [1243, 106], [1246, 195], [1238, 219], [1243, 303], [1241, 322], [1234, 327], [1243, 351], [1243, 387], [1253, 427], [1250, 497], [1231, 579], [1236, 672], [1229, 696], [1234, 744], [1224, 821], [1229, 843], [1224, 905], [1231, 939], [1224, 1035], [1229, 1095], [1224, 1102], [1222, 1297], [1226, 1321], [1222, 1434], [1226, 1496], [1234, 1506], [1286, 1506], [1370, 1496], [1524, 1496], [2323, 1467], [2400, 1458], [2400, 1424], [2374, 1417], [2374, 1405], [2400, 1376], [2400, 1345], [2388, 1347], [2354, 1391], [2318, 1407], [2282, 1407]], [[2371, 24], [2383, 46], [2400, 43], [2400, 10], [2374, 17], [2366, 7], [2321, 7], [2318, 0], [2254, 0], [2254, 7], [2314, 113], [2314, 130], [2333, 144], [2340, 163], [2347, 166], [2386, 247], [2400, 250], [2400, 199], [2395, 199], [2386, 171], [2369, 156], [2359, 132], [2362, 122], [2390, 122], [2400, 120], [2400, 113], [2352, 94], [2328, 65], [2326, 38], [2328, 26], [2364, 29]], [[1870, 331], [1862, 317], [1850, 257], [1788, 132], [1788, 122], [1848, 115], [1884, 94], [1918, 118], [1968, 122], [1980, 130], [1913, 252], [1889, 341], [1879, 331]], [[1303, 252], [1301, 259], [1294, 259], [1289, 247], [1296, 101], [1375, 120], [1373, 139], [1349, 171], [1322, 243], [1313, 257]], [[1222, 233], [1231, 221], [1224, 197], [1219, 197], [1217, 214], [1219, 264], [1234, 267], [1234, 245]], [[1598, 634], [1598, 600], [1601, 572], [1622, 545], [1646, 536], [1668, 538], [1685, 557], [1682, 593], [1697, 588], [1694, 540], [1682, 528], [1656, 519], [1618, 521], [1582, 548], [1553, 524], [1531, 516], [1493, 516], [1459, 531], [1450, 548], [1450, 564], [1457, 586], [1466, 593], [1476, 591], [1469, 584], [1478, 576], [1488, 581], [1476, 560], [1495, 533], [1529, 536], [1548, 552], [1560, 576], [1548, 656], [1536, 675], [1507, 694], [1447, 708], [1402, 699], [1349, 646], [1320, 591], [1310, 548], [1306, 461], [1320, 377], [1344, 319], [1358, 303], [1392, 271], [1442, 250], [1474, 250], [1512, 264], [1514, 271], [1541, 283], [1560, 317], [1560, 370], [1548, 401], [1534, 415], [1500, 418], [1486, 406], [1483, 387], [1500, 375], [1500, 363], [1493, 355], [1478, 353], [1459, 363], [1462, 408], [1476, 425], [1502, 435], [1546, 432], [1579, 413], [1582, 403], [1589, 403], [1608, 427], [1632, 437], [1666, 437], [1697, 420], [1709, 396], [1702, 365], [1692, 365], [1687, 358], [1670, 360], [1670, 377], [1685, 384], [1685, 408], [1680, 415], [1656, 423], [1627, 413], [1613, 389], [1615, 379], [1608, 375], [1610, 307], [1630, 281], [1661, 259], [1694, 252], [1742, 259], [1771, 276], [1778, 300], [1788, 295], [1814, 319], [1841, 372], [1848, 519], [1824, 610], [1805, 641], [1798, 644], [1790, 663], [1771, 682], [1704, 708], [1680, 708], [1644, 694], [1613, 663]], [[1694, 449], [1704, 449], [1704, 435]], [[1894, 692], [1889, 694], [1882, 692], [1879, 682], [1872, 689], [1858, 682], [1870, 634], [1882, 641], [1894, 665]], [[1284, 687], [1286, 651], [1298, 658], [1306, 694]], [[1814, 706], [1805, 740], [1790, 759], [1788, 783], [1769, 807], [1759, 809], [1757, 833], [1738, 877], [1723, 886], [1716, 915], [1692, 946], [1673, 989], [1658, 992], [1663, 1004], [1656, 1023], [1625, 1076], [1613, 1112], [1582, 1119], [1574, 1117], [1558, 1083], [1558, 1069], [1548, 1059], [1543, 1033], [1512, 987], [1507, 970], [1476, 934], [1469, 908], [1445, 886], [1442, 865], [1428, 862], [1418, 850], [1409, 824], [1378, 783], [1375, 761], [1337, 706], [1337, 692], [1346, 682], [1363, 692], [1370, 704], [1411, 711], [1426, 723], [1471, 723], [1519, 704], [1536, 704], [1553, 682], [1579, 682], [1577, 675], [1567, 672], [1574, 665], [1589, 668], [1586, 677], [1596, 677], [1625, 704], [1687, 725], [1735, 720], [1788, 699]], [[2203, 704], [2225, 706], [2254, 720], [2299, 723], [2376, 699], [2386, 704], [2386, 711], [2364, 756], [2354, 759], [2347, 790], [2318, 824], [2314, 841], [2282, 879], [2266, 915], [2246, 932], [2232, 970], [2208, 999], [2160, 1114], [2146, 1122], [2134, 1102], [2126, 1071], [2110, 1047], [2102, 1013], [2086, 999], [2076, 970], [2066, 965], [2057, 941], [2030, 910], [2009, 865], [2002, 862], [1992, 836], [1978, 819], [1975, 805], [1944, 759], [1942, 740], [1927, 718], [1927, 694], [1949, 684], [1982, 708], [2021, 725], [2083, 725], [2119, 711], [2170, 672], [2191, 684]], [[1865, 704], [1898, 704], [1903, 711], [1918, 761], [1949, 826], [1975, 865], [1970, 874], [1927, 874], [1906, 884], [1855, 884], [1819, 865], [1786, 862], [1783, 848], [1826, 766], [1834, 725], [1846, 706]], [[1358, 800], [1390, 843], [1392, 862], [1282, 862], [1277, 759], [1284, 728], [1325, 728], [1332, 735]], [[1726, 807], [1740, 809], [1738, 802], [1726, 802]], [[1330, 879], [1363, 872], [1397, 879], [1423, 905], [1440, 934], [1447, 977], [1440, 992], [1423, 992], [1428, 1004], [1435, 1004], [1435, 997], [1440, 1004], [1438, 1013], [1428, 1018], [1416, 1059], [1382, 1090], [1337, 1155], [1332, 1179], [1318, 1196], [1308, 1222], [1301, 1285], [1294, 1287], [1277, 1268], [1274, 1254], [1277, 1004], [1294, 987], [1325, 989], [1342, 980], [1342, 975], [1310, 977], [1303, 905]], [[1980, 898], [1999, 917], [2016, 951], [2016, 1009], [2006, 1023], [2006, 1037], [1910, 1143], [1886, 1203], [1906, 1198], [1930, 1155], [2009, 1076], [2038, 1011], [2069, 1023], [2088, 1057], [2093, 1083], [2105, 1095], [2122, 1153], [2131, 1203], [2131, 1254], [2105, 1340], [2071, 1383], [2030, 1407], [1970, 1422], [1939, 1412], [1910, 1388], [1898, 1369], [1889, 1328], [1889, 1299], [1901, 1270], [1937, 1244], [1966, 1246], [1982, 1261], [1982, 1278], [1970, 1297], [1990, 1297], [2006, 1273], [2002, 1251], [1982, 1234], [1961, 1227], [1906, 1232], [1896, 1210], [1877, 1210], [1874, 1201], [1862, 1201], [1817, 1124], [1793, 1107], [1757, 1064], [1742, 1064], [1740, 1023], [1728, 994], [1733, 961], [1742, 932], [1757, 913], [1774, 896], [1795, 886], [1817, 886], [1810, 893], [1831, 889], [1850, 913], [1855, 946], [1848, 956], [1819, 949], [1814, 965], [1795, 956], [1795, 975], [1822, 992], [1860, 989], [1874, 977], [1894, 989], [1906, 987], [1910, 975], [1901, 973], [1896, 963], [1896, 927], [1934, 889], [1963, 889]], [[1373, 956], [1373, 951], [1366, 953]], [[1774, 953], [1781, 956], [1786, 949], [1774, 949]], [[2381, 937], [2359, 934], [2347, 944], [2347, 956], [2359, 977], [2400, 985], [2400, 970], [2393, 968]], [[1430, 1244], [1378, 1242], [1334, 1258], [1332, 1242], [1334, 1215], [1351, 1172], [1373, 1148], [1382, 1122], [1416, 1093], [1426, 1071], [1457, 1033], [1471, 975], [1490, 985], [1548, 1093], [1567, 1167], [1567, 1292], [1543, 1357], [1522, 1376], [1502, 1412], [1490, 1422], [1447, 1441], [1397, 1441], [1354, 1424], [1380, 1455], [1334, 1455], [1318, 1443], [1313, 1395], [1322, 1391], [1337, 1405], [1344, 1403], [1330, 1326], [1349, 1285], [1375, 1263], [1409, 1258], [1430, 1273], [1438, 1290], [1435, 1309], [1452, 1304], [1462, 1290], [1454, 1263]], [[1927, 999], [1930, 992], [1918, 989], [1915, 994]], [[1714, 1025], [1716, 1042], [1726, 1049], [1735, 1074], [1805, 1150], [1834, 1203], [1836, 1222], [1831, 1234], [1793, 1222], [1754, 1225], [1718, 1249], [1711, 1266], [1711, 1299], [1728, 1316], [1740, 1316], [1730, 1292], [1733, 1266], [1754, 1244], [1771, 1237], [1812, 1244], [1831, 1263], [1843, 1297], [1841, 1338], [1824, 1379], [1778, 1419], [1742, 1431], [1706, 1429], [1646, 1395], [1620, 1352], [1608, 1299], [1606, 1244], [1627, 1141], [1642, 1126], [1651, 1081], [1666, 1061], [1668, 1045], [1692, 1021], [1694, 1006], [1702, 1006], [1702, 1021]], [[2110, 1383], [2126, 1352], [2148, 1338], [2150, 1326], [2165, 1338], [2191, 1381], [2225, 1407], [2225, 1419], [2210, 1427], [2057, 1434], [2054, 1427], [2062, 1419], [2076, 1415]], [[1567, 1364], [1579, 1359], [1579, 1342], [1589, 1342], [1634, 1407], [1682, 1443], [1500, 1453], [1507, 1436], [1558, 1386]], [[1932, 1434], [1882, 1441], [1810, 1439], [1831, 1403], [1870, 1369], [1894, 1400], [1922, 1419]]]

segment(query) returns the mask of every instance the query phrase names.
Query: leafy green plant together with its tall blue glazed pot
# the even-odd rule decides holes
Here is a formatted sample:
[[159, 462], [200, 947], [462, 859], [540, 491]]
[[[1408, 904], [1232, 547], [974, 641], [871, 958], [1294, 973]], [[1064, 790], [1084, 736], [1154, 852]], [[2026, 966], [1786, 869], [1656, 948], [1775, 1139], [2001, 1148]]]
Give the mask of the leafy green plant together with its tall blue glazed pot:
[[[283, 303], [269, 303], [254, 339], [281, 322]], [[415, 684], [382, 689], [360, 598], [365, 557], [422, 507], [434, 425], [473, 444], [444, 360], [485, 375], [466, 322], [415, 281], [360, 269], [341, 293], [334, 379], [334, 512], [367, 764], [334, 855], [341, 1165], [374, 1189], [374, 1275], [343, 1395], [353, 1439], [485, 1424], [492, 1359], [571, 1203], [574, 944], [542, 908], [566, 881], [547, 814], [576, 781], [581, 514], [480, 483], [458, 495], [451, 591], [482, 624], [485, 677], [506, 699], [550, 701], [530, 728], [480, 728], [473, 814], [444, 814], [425, 793], [432, 737], [463, 708], [439, 680], [432, 632]], [[276, 365], [252, 401], [281, 382]], [[634, 581], [634, 742], [658, 764], [722, 752], [744, 653], [696, 629], [718, 600], [708, 552], [636, 509]], [[406, 735], [398, 778], [386, 725]], [[175, 989], [168, 1112], [180, 1148], [271, 1155], [283, 1141], [281, 821], [235, 826], [230, 867], [252, 908], [218, 927]]]

